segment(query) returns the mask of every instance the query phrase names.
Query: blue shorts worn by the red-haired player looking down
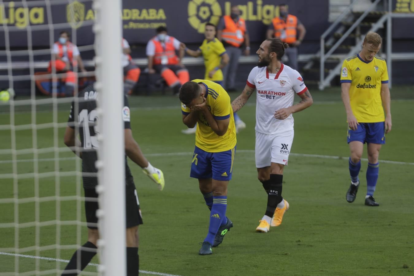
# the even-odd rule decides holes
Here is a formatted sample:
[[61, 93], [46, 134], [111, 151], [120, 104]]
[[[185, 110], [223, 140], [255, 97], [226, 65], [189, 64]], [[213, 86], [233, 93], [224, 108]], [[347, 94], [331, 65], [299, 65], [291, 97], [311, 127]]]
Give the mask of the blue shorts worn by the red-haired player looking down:
[[356, 130], [348, 127], [347, 142], [385, 144], [385, 122], [360, 122]]

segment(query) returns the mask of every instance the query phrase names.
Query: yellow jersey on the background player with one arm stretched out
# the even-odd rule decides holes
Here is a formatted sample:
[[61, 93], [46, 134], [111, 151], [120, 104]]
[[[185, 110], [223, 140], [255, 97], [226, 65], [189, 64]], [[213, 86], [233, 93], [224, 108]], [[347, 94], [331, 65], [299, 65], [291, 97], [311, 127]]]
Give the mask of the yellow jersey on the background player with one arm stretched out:
[[226, 53], [226, 49], [224, 49], [223, 43], [221, 43], [221, 41], [219, 41], [217, 38], [213, 38], [210, 41], [207, 41], [207, 39], [205, 39], [199, 49], [203, 54], [204, 65], [206, 68], [204, 78], [210, 81], [222, 81], [223, 72], [221, 72], [221, 70], [217, 70], [212, 78], [208, 76], [208, 72], [220, 65], [221, 56]]

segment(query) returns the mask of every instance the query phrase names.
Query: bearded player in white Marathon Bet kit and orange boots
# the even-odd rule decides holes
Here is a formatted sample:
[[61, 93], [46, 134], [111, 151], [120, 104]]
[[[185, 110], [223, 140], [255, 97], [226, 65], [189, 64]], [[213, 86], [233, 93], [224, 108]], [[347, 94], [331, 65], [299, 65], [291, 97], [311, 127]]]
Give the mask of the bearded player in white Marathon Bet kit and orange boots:
[[[256, 52], [258, 66], [251, 70], [242, 94], [231, 103], [236, 112], [257, 91], [255, 163], [258, 179], [267, 194], [267, 207], [256, 231], [264, 233], [270, 226], [279, 226], [289, 209], [289, 203], [282, 197], [282, 182], [294, 137], [292, 113], [313, 103], [301, 75], [281, 63], [286, 47], [278, 38], [262, 42]], [[294, 105], [295, 94], [301, 101]]]

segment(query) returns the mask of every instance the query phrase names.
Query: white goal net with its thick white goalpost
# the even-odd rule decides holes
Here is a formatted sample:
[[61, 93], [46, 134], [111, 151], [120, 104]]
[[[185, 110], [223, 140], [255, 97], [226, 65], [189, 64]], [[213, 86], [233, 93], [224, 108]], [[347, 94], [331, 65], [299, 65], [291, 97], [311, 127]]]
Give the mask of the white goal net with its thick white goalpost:
[[124, 191], [110, 185], [124, 171], [120, 9], [120, 0], [0, 0], [0, 275], [60, 275], [88, 239], [82, 160], [63, 138], [72, 101], [78, 112], [92, 83], [101, 239], [82, 275], [125, 275]]

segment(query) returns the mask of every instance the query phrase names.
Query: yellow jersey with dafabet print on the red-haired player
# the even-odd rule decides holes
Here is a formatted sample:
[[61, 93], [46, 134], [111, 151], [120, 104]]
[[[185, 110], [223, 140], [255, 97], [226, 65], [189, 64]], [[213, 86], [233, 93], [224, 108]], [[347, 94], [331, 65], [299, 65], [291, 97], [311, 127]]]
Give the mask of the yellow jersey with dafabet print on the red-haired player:
[[341, 83], [351, 83], [349, 99], [358, 122], [383, 122], [381, 84], [388, 83], [387, 63], [374, 56], [367, 62], [357, 54], [342, 64]]

